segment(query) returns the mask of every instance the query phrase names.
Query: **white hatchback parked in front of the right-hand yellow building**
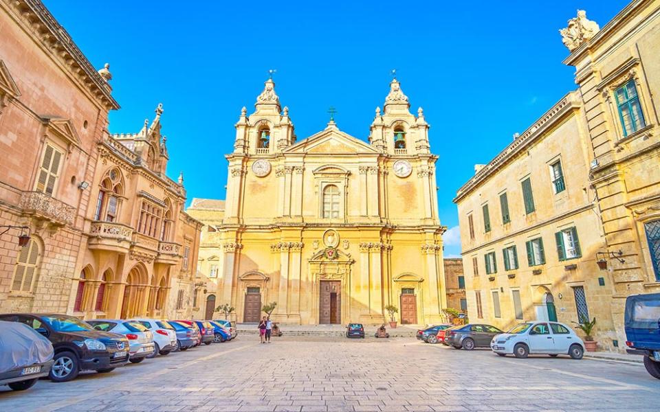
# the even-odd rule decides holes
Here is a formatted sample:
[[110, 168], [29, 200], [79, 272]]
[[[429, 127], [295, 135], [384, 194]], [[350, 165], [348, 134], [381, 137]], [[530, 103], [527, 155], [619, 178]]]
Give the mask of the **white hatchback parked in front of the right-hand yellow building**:
[[514, 354], [516, 358], [527, 358], [529, 354], [568, 354], [573, 359], [582, 359], [584, 355], [580, 336], [563, 323], [546, 321], [518, 323], [509, 332], [496, 335], [490, 348], [499, 356]]

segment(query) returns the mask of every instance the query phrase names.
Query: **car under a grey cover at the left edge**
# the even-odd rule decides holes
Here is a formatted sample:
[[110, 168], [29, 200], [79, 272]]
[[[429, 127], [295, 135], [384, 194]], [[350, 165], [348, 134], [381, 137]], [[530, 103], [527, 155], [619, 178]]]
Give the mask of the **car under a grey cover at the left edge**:
[[54, 354], [52, 343], [30, 326], [0, 321], [0, 386], [30, 389], [48, 376]]

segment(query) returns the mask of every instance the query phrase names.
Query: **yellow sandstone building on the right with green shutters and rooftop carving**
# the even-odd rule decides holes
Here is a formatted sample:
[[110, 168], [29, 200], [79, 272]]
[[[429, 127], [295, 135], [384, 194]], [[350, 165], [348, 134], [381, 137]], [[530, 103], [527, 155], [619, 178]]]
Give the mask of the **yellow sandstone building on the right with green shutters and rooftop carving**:
[[519, 321], [597, 319], [621, 350], [628, 295], [660, 291], [660, 1], [560, 30], [577, 90], [456, 194], [468, 312]]

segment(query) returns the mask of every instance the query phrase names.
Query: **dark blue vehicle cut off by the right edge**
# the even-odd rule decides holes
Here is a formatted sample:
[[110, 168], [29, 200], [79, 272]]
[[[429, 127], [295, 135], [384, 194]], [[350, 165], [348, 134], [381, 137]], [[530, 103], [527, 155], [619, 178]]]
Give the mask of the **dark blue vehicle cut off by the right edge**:
[[628, 296], [624, 321], [627, 352], [642, 355], [646, 371], [660, 379], [660, 293]]

